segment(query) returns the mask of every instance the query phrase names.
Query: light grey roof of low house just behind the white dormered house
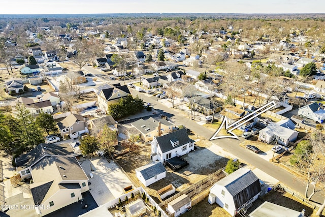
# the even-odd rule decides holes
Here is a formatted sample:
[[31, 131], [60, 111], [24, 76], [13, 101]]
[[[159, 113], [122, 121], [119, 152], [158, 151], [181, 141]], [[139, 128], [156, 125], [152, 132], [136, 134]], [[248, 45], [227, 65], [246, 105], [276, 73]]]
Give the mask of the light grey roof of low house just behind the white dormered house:
[[143, 134], [150, 133], [154, 130], [157, 130], [156, 128], [159, 125], [159, 121], [163, 125], [172, 126], [173, 124], [168, 122], [166, 119], [163, 118], [153, 118], [150, 117], [148, 119], [139, 119], [131, 123], [132, 126], [134, 126], [137, 130], [139, 130]]

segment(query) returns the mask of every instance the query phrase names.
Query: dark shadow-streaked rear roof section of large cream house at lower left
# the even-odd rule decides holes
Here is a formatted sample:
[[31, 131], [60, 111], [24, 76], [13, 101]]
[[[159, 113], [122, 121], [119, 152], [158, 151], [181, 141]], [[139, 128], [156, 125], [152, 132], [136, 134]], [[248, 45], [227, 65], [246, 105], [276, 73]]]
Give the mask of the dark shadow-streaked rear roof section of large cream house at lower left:
[[31, 149], [28, 153], [15, 158], [15, 162], [17, 167], [26, 168], [43, 158], [45, 155], [65, 156], [73, 153], [74, 152], [68, 143], [56, 145], [41, 143], [34, 149]]

